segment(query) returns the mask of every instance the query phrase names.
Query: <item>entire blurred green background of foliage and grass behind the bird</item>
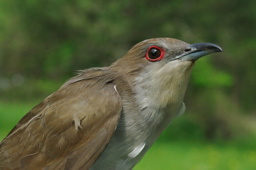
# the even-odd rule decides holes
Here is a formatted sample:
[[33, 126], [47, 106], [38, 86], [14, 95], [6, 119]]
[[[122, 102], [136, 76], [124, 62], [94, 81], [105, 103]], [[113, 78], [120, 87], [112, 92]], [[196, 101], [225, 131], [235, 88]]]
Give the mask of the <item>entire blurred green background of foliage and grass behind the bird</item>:
[[[194, 147], [202, 146], [196, 149], [206, 155], [212, 148], [225, 155], [225, 146], [243, 153], [245, 161], [231, 152], [223, 158], [226, 164], [212, 166], [209, 161], [200, 166], [207, 162], [201, 154], [198, 163], [186, 159], [187, 165], [171, 167], [256, 167], [255, 26], [254, 0], [2, 0], [0, 139], [76, 70], [108, 66], [145, 39], [172, 37], [218, 44], [223, 52], [197, 61], [185, 96], [186, 114], [173, 121], [158, 140], [158, 150], [152, 148], [137, 169], [147, 167], [148, 160], [151, 167], [166, 164], [163, 159], [156, 163], [155, 155], [168, 149], [186, 155], [189, 149], [184, 148], [193, 150], [195, 141], [199, 144]], [[166, 146], [163, 152], [160, 146]]]

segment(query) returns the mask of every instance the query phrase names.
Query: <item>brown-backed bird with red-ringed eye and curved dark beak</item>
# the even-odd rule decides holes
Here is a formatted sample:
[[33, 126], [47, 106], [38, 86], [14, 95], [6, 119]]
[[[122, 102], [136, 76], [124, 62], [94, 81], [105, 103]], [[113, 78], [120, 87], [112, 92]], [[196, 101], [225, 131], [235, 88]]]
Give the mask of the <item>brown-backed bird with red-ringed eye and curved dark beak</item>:
[[153, 38], [89, 68], [33, 107], [0, 143], [1, 170], [131, 170], [183, 102], [195, 61], [222, 49]]

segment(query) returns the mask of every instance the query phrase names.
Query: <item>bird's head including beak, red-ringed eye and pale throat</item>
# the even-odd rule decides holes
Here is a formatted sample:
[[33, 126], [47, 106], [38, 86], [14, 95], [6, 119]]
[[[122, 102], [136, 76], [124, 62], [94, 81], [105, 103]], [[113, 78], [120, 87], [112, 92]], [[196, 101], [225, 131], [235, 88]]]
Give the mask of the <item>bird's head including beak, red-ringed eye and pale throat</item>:
[[190, 45], [172, 38], [147, 39], [132, 47], [111, 68], [139, 92], [149, 89], [151, 92], [147, 93], [160, 95], [156, 94], [154, 98], [163, 98], [166, 94], [168, 98], [171, 95], [178, 100], [184, 97], [195, 61], [221, 51], [219, 46], [211, 43]]

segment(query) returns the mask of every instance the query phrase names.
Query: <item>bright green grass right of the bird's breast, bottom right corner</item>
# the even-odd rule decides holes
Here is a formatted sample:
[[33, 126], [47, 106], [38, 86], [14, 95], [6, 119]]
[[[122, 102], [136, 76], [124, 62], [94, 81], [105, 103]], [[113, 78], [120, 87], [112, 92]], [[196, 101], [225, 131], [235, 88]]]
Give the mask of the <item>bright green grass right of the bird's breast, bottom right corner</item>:
[[203, 142], [156, 142], [134, 170], [255, 170], [256, 150]]

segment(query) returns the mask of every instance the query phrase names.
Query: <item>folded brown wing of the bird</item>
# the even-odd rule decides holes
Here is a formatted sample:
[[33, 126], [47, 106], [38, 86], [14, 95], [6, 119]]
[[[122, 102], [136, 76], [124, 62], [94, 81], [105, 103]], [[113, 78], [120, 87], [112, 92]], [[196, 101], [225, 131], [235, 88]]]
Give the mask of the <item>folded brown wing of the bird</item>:
[[111, 83], [79, 80], [34, 107], [0, 143], [0, 169], [89, 169], [121, 113]]

